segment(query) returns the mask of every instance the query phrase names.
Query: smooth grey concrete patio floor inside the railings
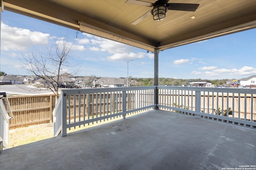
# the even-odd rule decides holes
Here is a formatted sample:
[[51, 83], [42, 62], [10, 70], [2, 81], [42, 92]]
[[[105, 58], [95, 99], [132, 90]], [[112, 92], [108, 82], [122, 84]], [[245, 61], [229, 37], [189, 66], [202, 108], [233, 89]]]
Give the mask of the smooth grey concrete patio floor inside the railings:
[[1, 170], [222, 170], [255, 165], [256, 129], [161, 110], [0, 154]]

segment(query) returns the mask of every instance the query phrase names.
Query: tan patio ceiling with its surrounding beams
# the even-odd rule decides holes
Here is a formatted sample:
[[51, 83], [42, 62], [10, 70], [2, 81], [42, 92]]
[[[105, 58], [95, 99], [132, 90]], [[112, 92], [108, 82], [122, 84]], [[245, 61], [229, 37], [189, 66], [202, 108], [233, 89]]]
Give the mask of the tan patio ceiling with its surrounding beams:
[[199, 6], [195, 12], [168, 10], [161, 21], [150, 14], [135, 25], [152, 7], [126, 1], [2, 0], [0, 7], [152, 52], [256, 28], [256, 0], [171, 0]]

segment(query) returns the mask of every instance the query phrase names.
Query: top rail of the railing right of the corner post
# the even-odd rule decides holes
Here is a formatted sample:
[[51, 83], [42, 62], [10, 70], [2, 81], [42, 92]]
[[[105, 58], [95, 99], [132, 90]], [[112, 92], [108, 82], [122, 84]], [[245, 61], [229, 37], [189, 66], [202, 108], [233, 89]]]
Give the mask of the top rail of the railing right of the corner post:
[[210, 87], [181, 87], [181, 86], [157, 86], [157, 88], [168, 89], [168, 90], [193, 90], [193, 91], [201, 91], [201, 92], [256, 94], [256, 89], [242, 89], [242, 88], [210, 88]]

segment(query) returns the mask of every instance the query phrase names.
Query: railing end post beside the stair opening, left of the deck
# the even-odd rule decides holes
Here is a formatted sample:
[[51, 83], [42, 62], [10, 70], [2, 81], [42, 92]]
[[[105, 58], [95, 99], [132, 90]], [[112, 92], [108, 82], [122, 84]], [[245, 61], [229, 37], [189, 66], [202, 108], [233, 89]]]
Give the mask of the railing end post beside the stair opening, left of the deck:
[[[62, 137], [67, 135], [67, 92], [62, 91], [61, 93], [62, 96], [62, 111], [61, 111], [61, 119], [62, 119]], [[70, 102], [70, 101], [69, 101]]]

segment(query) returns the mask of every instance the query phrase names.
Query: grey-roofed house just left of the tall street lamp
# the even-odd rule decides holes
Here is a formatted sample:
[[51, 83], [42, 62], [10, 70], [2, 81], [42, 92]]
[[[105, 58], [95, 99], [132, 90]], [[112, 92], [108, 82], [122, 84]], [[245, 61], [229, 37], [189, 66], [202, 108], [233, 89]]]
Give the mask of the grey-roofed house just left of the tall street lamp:
[[113, 88], [113, 87], [124, 87], [124, 79], [122, 78], [108, 78], [102, 77], [98, 79], [100, 83], [99, 87]]

